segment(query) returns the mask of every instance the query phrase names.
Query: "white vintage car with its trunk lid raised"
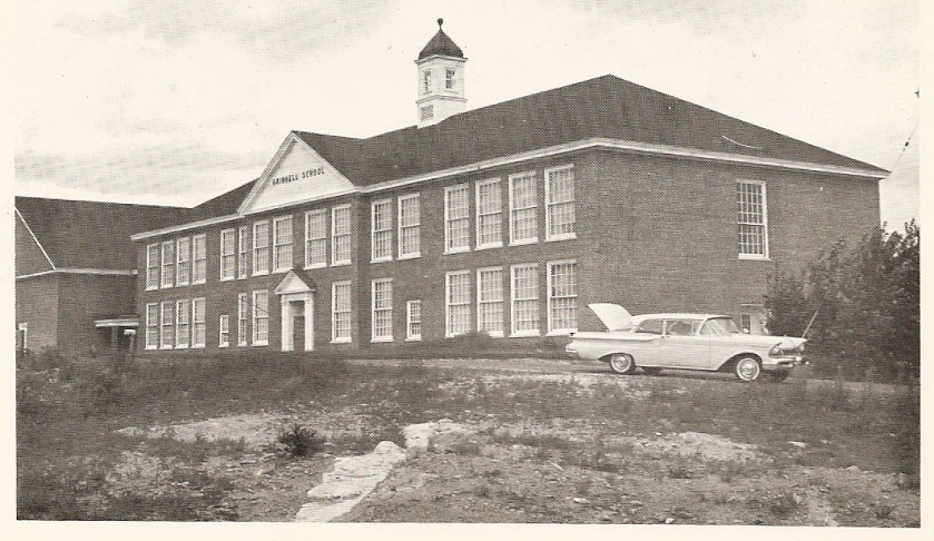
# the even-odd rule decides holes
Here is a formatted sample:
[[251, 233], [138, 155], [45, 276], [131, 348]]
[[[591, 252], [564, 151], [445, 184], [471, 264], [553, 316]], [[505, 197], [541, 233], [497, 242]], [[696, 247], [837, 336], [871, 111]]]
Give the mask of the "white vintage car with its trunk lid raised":
[[653, 374], [662, 368], [733, 372], [744, 382], [763, 373], [784, 381], [804, 361], [805, 338], [743, 333], [725, 315], [642, 314], [632, 316], [617, 304], [589, 305], [607, 332], [571, 335], [564, 348], [572, 357], [602, 361], [619, 374], [638, 366]]

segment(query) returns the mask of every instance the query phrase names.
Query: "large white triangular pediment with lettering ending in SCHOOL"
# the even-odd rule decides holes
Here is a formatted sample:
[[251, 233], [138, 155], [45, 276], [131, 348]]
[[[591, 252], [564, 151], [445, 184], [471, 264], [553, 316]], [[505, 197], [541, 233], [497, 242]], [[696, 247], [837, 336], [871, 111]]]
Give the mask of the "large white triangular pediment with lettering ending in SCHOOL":
[[314, 148], [289, 134], [244, 199], [239, 213], [272, 210], [355, 190]]

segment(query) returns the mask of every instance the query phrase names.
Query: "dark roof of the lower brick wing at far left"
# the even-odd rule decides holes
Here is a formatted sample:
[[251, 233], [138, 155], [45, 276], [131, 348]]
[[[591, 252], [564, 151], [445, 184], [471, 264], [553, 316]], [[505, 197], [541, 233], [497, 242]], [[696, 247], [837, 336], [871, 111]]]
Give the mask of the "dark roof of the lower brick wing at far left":
[[191, 209], [17, 197], [16, 208], [58, 268], [136, 268], [134, 233], [190, 222]]

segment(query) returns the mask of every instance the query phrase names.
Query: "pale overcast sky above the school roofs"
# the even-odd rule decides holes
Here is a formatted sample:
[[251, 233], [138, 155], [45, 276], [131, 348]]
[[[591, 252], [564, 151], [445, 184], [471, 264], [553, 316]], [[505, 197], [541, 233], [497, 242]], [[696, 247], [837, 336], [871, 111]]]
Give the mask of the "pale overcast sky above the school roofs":
[[[439, 17], [468, 108], [613, 73], [886, 169], [918, 119], [914, 0], [18, 3], [20, 195], [190, 206], [288, 130], [410, 126]], [[916, 209], [914, 167], [889, 207]]]

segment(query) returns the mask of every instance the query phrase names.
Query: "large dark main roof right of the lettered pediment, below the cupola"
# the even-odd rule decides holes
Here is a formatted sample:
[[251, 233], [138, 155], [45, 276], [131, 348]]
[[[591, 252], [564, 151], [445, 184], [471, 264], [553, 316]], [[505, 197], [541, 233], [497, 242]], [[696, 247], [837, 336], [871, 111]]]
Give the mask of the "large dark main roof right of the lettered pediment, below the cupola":
[[610, 75], [367, 139], [295, 134], [360, 186], [593, 137], [887, 173]]

